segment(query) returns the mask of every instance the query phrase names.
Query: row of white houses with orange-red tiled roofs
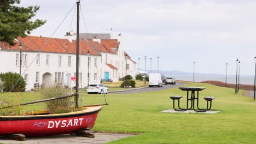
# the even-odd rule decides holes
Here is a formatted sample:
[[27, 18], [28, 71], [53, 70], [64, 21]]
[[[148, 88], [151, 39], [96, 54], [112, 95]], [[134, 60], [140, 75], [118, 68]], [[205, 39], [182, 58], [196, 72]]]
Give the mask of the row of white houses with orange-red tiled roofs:
[[[88, 82], [92, 84], [100, 81], [118, 81], [126, 73], [135, 78], [136, 63], [126, 55], [121, 42], [122, 36], [118, 37], [118, 39], [80, 39], [79, 86], [85, 87]], [[66, 39], [19, 37], [18, 40], [24, 45], [21, 57], [20, 44], [17, 41], [15, 46], [0, 42], [0, 73], [8, 71], [20, 73], [21, 68], [21, 74], [27, 84], [26, 91], [54, 83], [73, 87], [75, 82], [71, 81], [71, 77], [75, 76], [75, 38], [73, 32], [67, 33]], [[113, 38], [113, 35], [110, 38]], [[125, 65], [126, 59], [127, 65]]]

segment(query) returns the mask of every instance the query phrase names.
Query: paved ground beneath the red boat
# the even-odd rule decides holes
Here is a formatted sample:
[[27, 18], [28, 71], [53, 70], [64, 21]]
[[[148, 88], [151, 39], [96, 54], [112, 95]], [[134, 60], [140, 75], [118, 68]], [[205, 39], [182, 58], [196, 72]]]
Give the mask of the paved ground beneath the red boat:
[[112, 133], [95, 133], [95, 138], [81, 137], [77, 135], [54, 135], [54, 136], [41, 136], [41, 137], [26, 137], [26, 141], [15, 141], [7, 140], [4, 137], [0, 137], [0, 143], [8, 144], [37, 144], [37, 143], [47, 143], [47, 144], [63, 144], [63, 143], [83, 143], [83, 144], [98, 144], [106, 143], [109, 141], [114, 141], [118, 139], [123, 139], [133, 135], [128, 134], [112, 134]]

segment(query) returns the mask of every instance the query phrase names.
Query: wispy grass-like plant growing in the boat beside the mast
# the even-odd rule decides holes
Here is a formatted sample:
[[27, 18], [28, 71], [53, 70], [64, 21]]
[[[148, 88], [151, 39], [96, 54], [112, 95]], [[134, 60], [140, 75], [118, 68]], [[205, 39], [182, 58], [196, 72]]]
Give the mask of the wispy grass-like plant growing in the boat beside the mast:
[[[68, 91], [68, 89], [62, 87], [61, 85], [57, 85], [54, 87], [42, 89], [41, 95], [44, 99], [49, 99], [71, 95], [71, 93]], [[74, 100], [72, 99], [72, 97], [67, 97], [62, 99], [45, 101], [45, 104], [49, 113], [66, 113], [72, 111], [71, 107], [73, 107]]]

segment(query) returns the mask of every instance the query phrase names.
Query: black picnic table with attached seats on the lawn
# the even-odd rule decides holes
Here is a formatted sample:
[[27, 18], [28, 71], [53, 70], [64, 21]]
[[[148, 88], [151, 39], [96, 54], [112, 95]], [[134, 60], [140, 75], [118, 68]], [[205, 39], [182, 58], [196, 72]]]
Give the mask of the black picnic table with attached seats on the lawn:
[[[200, 109], [199, 107], [199, 91], [202, 91], [203, 89], [205, 89], [205, 87], [179, 87], [179, 89], [181, 89], [182, 91], [187, 91], [187, 107], [182, 108], [179, 105], [179, 100], [182, 98], [182, 96], [171, 96], [170, 98], [173, 100], [173, 109], [175, 111], [187, 111], [187, 110], [191, 110], [193, 108], [194, 111], [197, 112], [206, 112], [208, 110], [211, 110], [212, 108], [212, 100], [215, 97], [205, 97], [203, 99], [205, 99], [207, 101], [206, 104], [206, 109]], [[195, 92], [197, 92], [197, 95], [195, 95]], [[191, 93], [190, 97], [189, 97], [189, 93]], [[175, 100], [178, 100], [178, 108], [175, 108]], [[196, 101], [196, 104], [195, 104]], [[190, 102], [190, 104], [189, 104]], [[210, 106], [209, 106], [210, 103]], [[190, 106], [189, 106], [190, 105]], [[195, 107], [196, 105], [196, 107]]]

